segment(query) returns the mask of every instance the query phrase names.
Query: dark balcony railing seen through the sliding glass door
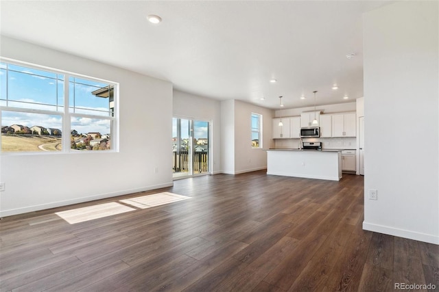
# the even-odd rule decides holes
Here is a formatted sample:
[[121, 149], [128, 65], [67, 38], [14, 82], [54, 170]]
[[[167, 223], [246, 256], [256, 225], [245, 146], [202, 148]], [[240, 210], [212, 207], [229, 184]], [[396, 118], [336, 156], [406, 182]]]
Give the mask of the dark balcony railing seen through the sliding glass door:
[[[174, 151], [174, 172], [189, 172], [189, 152], [187, 150]], [[193, 173], [209, 172], [209, 154], [207, 151], [193, 153]]]

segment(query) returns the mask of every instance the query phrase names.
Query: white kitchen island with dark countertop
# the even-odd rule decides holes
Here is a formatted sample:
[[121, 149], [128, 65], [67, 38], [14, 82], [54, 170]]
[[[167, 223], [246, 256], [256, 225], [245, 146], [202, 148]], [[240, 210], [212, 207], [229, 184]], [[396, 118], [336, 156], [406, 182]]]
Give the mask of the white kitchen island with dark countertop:
[[340, 181], [341, 150], [267, 150], [267, 174]]

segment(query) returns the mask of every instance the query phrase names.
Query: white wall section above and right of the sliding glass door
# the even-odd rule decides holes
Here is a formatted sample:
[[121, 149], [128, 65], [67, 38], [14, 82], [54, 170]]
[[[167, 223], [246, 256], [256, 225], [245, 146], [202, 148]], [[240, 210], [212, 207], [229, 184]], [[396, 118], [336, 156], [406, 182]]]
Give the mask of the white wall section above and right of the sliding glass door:
[[212, 172], [221, 172], [221, 102], [174, 90], [174, 116], [211, 122]]

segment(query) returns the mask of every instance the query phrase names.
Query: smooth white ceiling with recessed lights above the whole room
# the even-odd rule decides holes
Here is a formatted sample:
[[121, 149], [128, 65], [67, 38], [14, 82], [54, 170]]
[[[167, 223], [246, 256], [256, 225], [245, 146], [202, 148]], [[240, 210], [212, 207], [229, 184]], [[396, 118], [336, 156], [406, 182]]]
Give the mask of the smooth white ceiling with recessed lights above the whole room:
[[[0, 31], [184, 92], [272, 109], [283, 96], [285, 108], [297, 108], [313, 105], [313, 90], [318, 105], [363, 96], [361, 14], [388, 3], [1, 1]], [[152, 25], [148, 14], [162, 23]]]

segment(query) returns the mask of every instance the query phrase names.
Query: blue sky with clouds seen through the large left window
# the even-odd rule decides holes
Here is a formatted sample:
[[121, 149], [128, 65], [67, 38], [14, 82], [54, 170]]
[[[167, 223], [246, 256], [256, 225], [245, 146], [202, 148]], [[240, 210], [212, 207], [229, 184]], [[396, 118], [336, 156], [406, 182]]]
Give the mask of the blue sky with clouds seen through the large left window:
[[[64, 75], [12, 64], [8, 64], [8, 68], [7, 76], [6, 64], [0, 63], [0, 105], [6, 104], [7, 87], [8, 105], [12, 107], [30, 107], [58, 112], [64, 110]], [[91, 94], [91, 92], [104, 88], [108, 84], [73, 77], [69, 81], [69, 106], [75, 105], [76, 113], [108, 116], [108, 98]], [[20, 102], [27, 102], [27, 104]], [[62, 117], [56, 114], [3, 110], [1, 125], [10, 126], [12, 124], [61, 129]], [[71, 129], [75, 129], [78, 133], [100, 132], [104, 134], [110, 133], [110, 123], [108, 120], [101, 119], [72, 118]]]

